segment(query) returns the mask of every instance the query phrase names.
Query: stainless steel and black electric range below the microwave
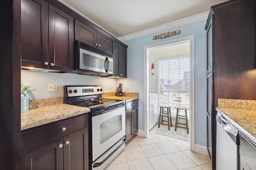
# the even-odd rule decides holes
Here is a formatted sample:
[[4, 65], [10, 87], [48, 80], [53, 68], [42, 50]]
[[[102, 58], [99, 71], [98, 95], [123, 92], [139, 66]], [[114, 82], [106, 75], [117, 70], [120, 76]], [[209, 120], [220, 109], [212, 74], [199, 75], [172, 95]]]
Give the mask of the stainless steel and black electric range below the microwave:
[[89, 158], [103, 170], [125, 148], [125, 101], [102, 98], [102, 86], [64, 86], [64, 103], [89, 107]]

